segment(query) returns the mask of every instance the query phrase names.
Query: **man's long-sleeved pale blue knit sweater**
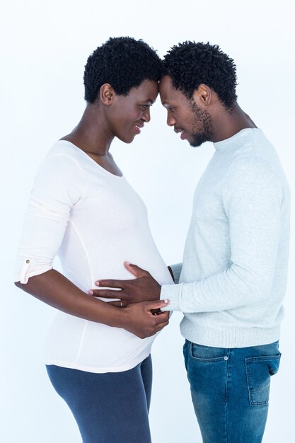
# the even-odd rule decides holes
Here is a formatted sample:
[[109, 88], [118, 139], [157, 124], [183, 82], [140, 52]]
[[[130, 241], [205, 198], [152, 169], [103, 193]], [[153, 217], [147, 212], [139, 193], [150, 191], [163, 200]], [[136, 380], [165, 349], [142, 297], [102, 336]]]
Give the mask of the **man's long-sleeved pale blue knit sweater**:
[[163, 310], [183, 311], [181, 332], [199, 345], [272, 343], [284, 315], [289, 186], [261, 130], [214, 147], [195, 190], [179, 283], [161, 289], [170, 299]]

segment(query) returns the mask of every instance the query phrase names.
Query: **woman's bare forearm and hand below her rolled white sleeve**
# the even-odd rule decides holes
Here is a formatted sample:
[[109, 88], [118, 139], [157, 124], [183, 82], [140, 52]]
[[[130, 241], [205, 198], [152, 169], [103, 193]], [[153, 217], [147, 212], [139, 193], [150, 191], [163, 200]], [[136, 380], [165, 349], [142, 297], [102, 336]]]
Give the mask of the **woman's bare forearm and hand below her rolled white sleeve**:
[[154, 335], [169, 322], [168, 312], [157, 316], [151, 313], [151, 309], [159, 309], [168, 302], [149, 301], [117, 308], [81, 291], [54, 269], [30, 277], [25, 284], [16, 282], [16, 286], [60, 311], [89, 321], [124, 328], [139, 338]]

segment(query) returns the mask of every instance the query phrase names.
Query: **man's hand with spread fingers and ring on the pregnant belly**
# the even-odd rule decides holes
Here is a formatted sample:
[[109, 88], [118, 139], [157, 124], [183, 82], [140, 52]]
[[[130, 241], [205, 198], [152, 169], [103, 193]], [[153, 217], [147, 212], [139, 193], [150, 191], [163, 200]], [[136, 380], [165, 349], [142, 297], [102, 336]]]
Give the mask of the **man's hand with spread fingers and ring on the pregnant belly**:
[[[161, 285], [151, 274], [137, 265], [125, 262], [125, 267], [132, 272], [136, 279], [133, 280], [98, 280], [97, 286], [110, 287], [112, 289], [91, 289], [88, 294], [94, 297], [105, 297], [106, 299], [120, 299], [112, 301], [118, 307], [125, 307], [130, 303], [139, 301], [154, 301], [160, 298]], [[117, 289], [121, 289], [118, 291]]]

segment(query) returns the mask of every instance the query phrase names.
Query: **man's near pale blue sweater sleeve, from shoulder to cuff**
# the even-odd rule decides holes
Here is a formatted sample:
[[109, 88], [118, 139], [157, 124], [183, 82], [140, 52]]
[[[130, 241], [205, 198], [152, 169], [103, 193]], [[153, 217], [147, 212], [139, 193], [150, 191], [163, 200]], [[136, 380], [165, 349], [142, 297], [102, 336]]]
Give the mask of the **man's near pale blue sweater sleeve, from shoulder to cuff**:
[[282, 183], [267, 161], [245, 156], [231, 166], [223, 198], [231, 264], [197, 282], [164, 285], [161, 299], [169, 294], [169, 310], [224, 311], [269, 295], [279, 243]]

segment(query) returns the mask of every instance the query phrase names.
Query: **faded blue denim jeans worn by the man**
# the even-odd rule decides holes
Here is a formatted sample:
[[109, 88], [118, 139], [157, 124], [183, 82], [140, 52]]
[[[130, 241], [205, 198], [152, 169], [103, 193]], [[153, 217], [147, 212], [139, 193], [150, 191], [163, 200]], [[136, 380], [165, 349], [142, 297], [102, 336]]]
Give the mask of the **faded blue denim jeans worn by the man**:
[[185, 340], [183, 354], [203, 442], [261, 443], [279, 342], [226, 349]]

